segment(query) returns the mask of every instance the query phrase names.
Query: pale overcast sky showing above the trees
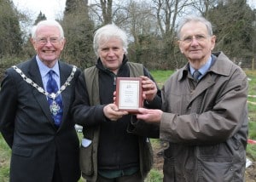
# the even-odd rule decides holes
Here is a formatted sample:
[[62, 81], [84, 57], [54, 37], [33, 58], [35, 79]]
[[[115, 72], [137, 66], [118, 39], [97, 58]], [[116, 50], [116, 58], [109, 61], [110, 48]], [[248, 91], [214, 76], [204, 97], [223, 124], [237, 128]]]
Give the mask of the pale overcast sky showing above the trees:
[[[33, 20], [41, 11], [47, 19], [61, 19], [66, 0], [12, 0], [21, 12], [29, 14]], [[247, 3], [256, 9], [256, 0], [247, 0]]]

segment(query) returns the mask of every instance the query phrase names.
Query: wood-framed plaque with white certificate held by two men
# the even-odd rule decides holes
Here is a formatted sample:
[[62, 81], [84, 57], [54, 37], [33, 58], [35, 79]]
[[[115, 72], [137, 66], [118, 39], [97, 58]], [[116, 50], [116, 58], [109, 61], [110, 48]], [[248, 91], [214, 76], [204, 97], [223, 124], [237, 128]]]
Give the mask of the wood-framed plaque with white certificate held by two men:
[[137, 113], [143, 107], [142, 78], [117, 77], [116, 78], [116, 105], [119, 111]]

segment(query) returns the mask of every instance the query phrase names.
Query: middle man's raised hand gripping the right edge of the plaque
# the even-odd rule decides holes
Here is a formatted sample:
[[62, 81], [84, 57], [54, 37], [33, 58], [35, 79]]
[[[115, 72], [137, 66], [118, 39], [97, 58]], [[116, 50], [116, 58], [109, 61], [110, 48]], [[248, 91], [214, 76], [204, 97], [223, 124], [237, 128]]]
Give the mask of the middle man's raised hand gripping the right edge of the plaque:
[[157, 93], [157, 87], [155, 82], [153, 82], [150, 78], [141, 76], [143, 79], [143, 100], [152, 101]]

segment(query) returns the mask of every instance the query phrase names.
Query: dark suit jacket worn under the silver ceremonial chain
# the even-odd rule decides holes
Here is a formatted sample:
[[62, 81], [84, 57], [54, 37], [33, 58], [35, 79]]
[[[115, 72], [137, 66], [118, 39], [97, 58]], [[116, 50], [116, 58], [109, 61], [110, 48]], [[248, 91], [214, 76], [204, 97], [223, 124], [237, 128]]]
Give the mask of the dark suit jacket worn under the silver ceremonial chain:
[[[17, 66], [44, 88], [35, 57]], [[62, 85], [72, 66], [62, 62], [59, 66]], [[50, 182], [56, 159], [63, 181], [79, 180], [79, 138], [70, 112], [79, 73], [76, 71], [71, 84], [61, 93], [63, 119], [60, 128], [55, 128], [46, 96], [13, 68], [6, 71], [0, 91], [0, 131], [12, 149], [10, 181]]]

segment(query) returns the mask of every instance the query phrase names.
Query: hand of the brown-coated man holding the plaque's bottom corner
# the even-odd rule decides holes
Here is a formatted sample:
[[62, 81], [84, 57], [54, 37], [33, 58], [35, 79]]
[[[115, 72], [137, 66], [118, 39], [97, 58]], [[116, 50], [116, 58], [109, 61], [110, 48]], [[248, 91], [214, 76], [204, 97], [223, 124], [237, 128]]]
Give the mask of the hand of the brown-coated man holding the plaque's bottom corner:
[[145, 108], [139, 108], [137, 119], [141, 119], [145, 122], [160, 122], [163, 111], [160, 110], [149, 110]]

